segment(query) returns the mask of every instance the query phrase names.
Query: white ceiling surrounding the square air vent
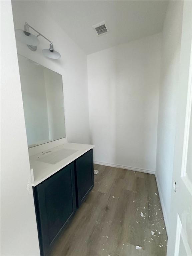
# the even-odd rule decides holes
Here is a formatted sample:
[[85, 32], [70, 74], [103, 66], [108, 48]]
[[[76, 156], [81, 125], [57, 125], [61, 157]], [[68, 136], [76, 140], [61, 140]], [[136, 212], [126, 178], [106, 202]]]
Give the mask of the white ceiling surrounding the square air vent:
[[[33, 2], [33, 1], [32, 1]], [[86, 53], [162, 31], [168, 1], [34, 1]], [[93, 25], [106, 21], [109, 33], [97, 36]]]

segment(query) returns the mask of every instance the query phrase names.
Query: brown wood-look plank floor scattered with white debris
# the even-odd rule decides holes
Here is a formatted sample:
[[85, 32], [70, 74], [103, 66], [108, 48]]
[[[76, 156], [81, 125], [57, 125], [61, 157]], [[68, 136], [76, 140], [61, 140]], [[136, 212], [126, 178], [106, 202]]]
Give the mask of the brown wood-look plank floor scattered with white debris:
[[51, 256], [165, 256], [167, 235], [155, 175], [102, 165], [94, 169], [99, 171], [95, 186]]

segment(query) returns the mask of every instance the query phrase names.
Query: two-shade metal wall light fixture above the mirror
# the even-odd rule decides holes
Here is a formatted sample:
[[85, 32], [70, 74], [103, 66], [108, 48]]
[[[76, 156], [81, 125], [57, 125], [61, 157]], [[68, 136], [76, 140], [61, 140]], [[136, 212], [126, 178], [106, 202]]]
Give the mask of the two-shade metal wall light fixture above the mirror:
[[[31, 34], [29, 32], [29, 27], [31, 29], [33, 29], [35, 32], [37, 32], [38, 35], [35, 36], [35, 35]], [[36, 29], [31, 27], [27, 22], [25, 22], [24, 30], [22, 30], [22, 29], [15, 30], [16, 39], [20, 42], [27, 44], [27, 46], [29, 47], [29, 49], [31, 51], [37, 50], [37, 45], [39, 45], [39, 43], [40, 43], [40, 41], [38, 39], [39, 36], [44, 37], [47, 41], [50, 42], [49, 49], [42, 50], [43, 55], [45, 55], [46, 57], [51, 58], [51, 59], [59, 59], [61, 57], [61, 54], [54, 50], [53, 42], [50, 41], [48, 38], [46, 38], [44, 35], [42, 35], [40, 32], [38, 32]]]

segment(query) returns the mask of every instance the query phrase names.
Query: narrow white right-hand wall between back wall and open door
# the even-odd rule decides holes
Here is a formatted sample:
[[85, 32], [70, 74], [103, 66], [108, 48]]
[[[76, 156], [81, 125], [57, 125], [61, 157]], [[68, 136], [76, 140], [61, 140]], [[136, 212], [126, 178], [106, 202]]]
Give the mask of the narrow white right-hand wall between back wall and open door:
[[170, 1], [163, 28], [156, 180], [168, 230], [172, 189], [183, 1]]

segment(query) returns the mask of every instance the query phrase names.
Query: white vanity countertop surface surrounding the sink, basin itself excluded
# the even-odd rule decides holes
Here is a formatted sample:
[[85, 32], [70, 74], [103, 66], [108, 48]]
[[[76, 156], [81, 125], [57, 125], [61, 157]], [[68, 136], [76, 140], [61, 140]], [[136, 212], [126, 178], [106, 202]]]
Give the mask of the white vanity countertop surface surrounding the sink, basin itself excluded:
[[57, 162], [56, 164], [49, 164], [44, 163], [37, 160], [38, 154], [41, 154], [43, 152], [39, 152], [34, 155], [29, 156], [30, 160], [30, 168], [31, 168], [31, 180], [32, 180], [32, 186], [35, 187], [44, 180], [48, 179], [50, 176], [67, 166], [68, 164], [75, 161], [77, 158], [85, 154], [87, 151], [94, 148], [94, 145], [89, 144], [80, 144], [80, 143], [64, 143], [60, 144], [57, 147], [54, 148], [47, 148], [45, 151], [48, 151], [49, 149], [69, 149], [69, 150], [75, 150], [76, 152], [63, 158], [62, 161]]

